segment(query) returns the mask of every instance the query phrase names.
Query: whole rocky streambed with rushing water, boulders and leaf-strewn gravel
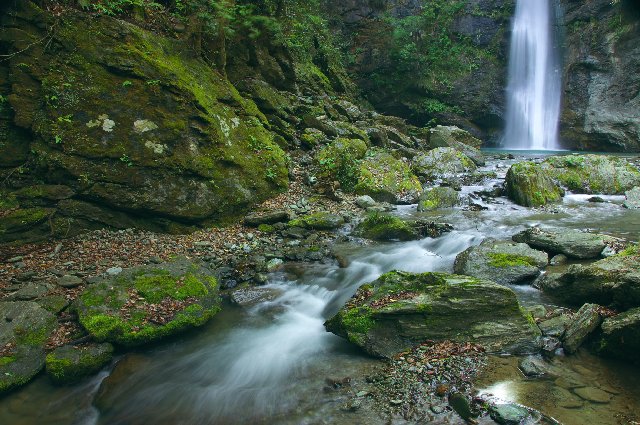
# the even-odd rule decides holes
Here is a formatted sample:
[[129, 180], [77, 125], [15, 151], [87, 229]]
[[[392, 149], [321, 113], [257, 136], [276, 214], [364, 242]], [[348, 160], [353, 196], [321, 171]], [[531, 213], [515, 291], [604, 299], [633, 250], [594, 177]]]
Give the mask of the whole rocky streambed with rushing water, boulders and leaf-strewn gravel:
[[[13, 258], [3, 302], [44, 311], [38, 323], [49, 337], [26, 338], [26, 345], [47, 363], [49, 377], [4, 396], [0, 419], [637, 421], [638, 369], [631, 364], [640, 217], [623, 206], [632, 197], [596, 200], [593, 188], [576, 195], [557, 177], [551, 184], [564, 192], [562, 200], [519, 206], [501, 186], [522, 159], [495, 155], [479, 170], [462, 161], [474, 170], [445, 170], [428, 180], [455, 196], [444, 199], [432, 189], [418, 205], [349, 196], [309, 201], [301, 189], [229, 233], [169, 240], [115, 233], [114, 239], [149, 240], [129, 246], [134, 264], [144, 246], [161, 254], [133, 269], [107, 256], [77, 273], [84, 254], [69, 264], [71, 250], [56, 252], [56, 245]], [[533, 160], [527, 167], [547, 167], [527, 159]], [[529, 198], [539, 200], [538, 191]], [[173, 248], [157, 248], [158, 239]], [[77, 241], [89, 242], [83, 251], [100, 244], [95, 234]], [[183, 259], [170, 258], [174, 253]], [[29, 273], [43, 277], [24, 279]], [[68, 299], [75, 300], [71, 310]], [[52, 311], [63, 311], [57, 325]], [[345, 338], [328, 333], [325, 322]], [[185, 324], [199, 329], [185, 333]], [[89, 346], [101, 347], [90, 356], [100, 361], [80, 361]], [[4, 350], [4, 357], [18, 355], [11, 345]], [[87, 367], [78, 376], [77, 367], [65, 369], [74, 358]], [[53, 386], [66, 378], [76, 383]], [[44, 407], [35, 411], [34, 404]]]

